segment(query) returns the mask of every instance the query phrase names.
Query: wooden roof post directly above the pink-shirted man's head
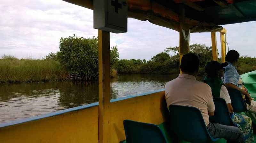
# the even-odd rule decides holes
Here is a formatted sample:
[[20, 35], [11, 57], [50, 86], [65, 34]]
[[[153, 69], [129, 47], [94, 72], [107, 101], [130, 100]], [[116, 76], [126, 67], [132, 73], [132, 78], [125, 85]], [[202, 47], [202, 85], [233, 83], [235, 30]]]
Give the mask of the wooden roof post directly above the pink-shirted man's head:
[[[188, 25], [185, 25], [185, 8], [182, 4], [180, 7], [180, 62], [184, 54], [187, 54], [189, 51], [189, 35], [190, 28]], [[181, 70], [180, 70], [181, 73]]]

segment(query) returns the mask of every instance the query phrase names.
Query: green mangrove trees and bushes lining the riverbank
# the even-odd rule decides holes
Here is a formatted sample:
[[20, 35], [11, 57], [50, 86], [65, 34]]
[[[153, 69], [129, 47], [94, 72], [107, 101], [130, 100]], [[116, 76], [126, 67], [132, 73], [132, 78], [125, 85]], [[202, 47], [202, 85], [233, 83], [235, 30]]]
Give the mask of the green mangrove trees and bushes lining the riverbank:
[[[50, 53], [45, 60], [56, 60], [66, 69], [71, 80], [95, 80], [98, 78], [98, 38], [83, 38], [76, 35], [61, 38], [60, 52]], [[170, 55], [169, 53], [174, 53]], [[212, 61], [212, 47], [193, 44], [189, 53], [200, 59], [199, 75], [204, 75], [204, 66]], [[151, 60], [119, 59], [117, 46], [110, 49], [112, 76], [118, 74], [179, 74], [179, 46], [167, 47]], [[220, 60], [220, 59], [219, 59]], [[256, 58], [241, 57], [238, 71], [240, 74], [256, 70]]]

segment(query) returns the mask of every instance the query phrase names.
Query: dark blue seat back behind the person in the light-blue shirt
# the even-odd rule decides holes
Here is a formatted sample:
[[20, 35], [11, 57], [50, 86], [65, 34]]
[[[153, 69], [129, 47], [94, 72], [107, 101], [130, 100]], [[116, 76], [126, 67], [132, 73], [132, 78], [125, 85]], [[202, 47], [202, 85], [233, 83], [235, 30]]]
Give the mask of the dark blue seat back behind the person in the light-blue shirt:
[[234, 112], [244, 112], [246, 111], [246, 107], [244, 105], [244, 100], [242, 94], [237, 89], [228, 89], [228, 94], [231, 99], [231, 105], [233, 107]]

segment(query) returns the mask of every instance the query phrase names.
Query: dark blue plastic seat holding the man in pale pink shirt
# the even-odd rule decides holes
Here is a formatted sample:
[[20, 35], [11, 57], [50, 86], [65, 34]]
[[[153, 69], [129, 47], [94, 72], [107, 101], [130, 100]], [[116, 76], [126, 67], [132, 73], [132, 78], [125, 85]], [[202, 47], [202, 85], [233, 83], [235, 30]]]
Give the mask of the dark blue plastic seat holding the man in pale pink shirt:
[[212, 138], [205, 126], [201, 112], [195, 107], [170, 105], [171, 130], [179, 139], [191, 143], [217, 141]]

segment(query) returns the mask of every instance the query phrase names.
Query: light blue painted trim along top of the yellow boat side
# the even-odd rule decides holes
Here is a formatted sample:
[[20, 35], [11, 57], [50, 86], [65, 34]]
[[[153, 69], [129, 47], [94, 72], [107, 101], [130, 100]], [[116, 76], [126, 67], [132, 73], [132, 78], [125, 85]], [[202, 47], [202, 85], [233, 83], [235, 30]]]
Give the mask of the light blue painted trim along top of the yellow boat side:
[[[127, 96], [127, 97], [120, 97], [120, 98], [117, 98], [117, 99], [111, 99], [110, 102], [121, 101], [121, 100], [129, 99], [129, 98], [132, 98], [132, 97], [146, 96], [146, 95], [161, 92], [161, 91], [164, 91], [164, 89], [156, 90], [156, 91], [153, 91], [153, 92], [146, 92], [146, 93], [143, 93], [143, 94], [137, 94], [137, 95], [134, 95], [134, 96]], [[65, 110], [51, 112], [51, 113], [40, 115], [40, 116], [25, 118], [25, 119], [16, 120], [16, 121], [8, 122], [8, 123], [2, 123], [2, 124], [0, 124], [0, 128], [11, 126], [11, 125], [22, 124], [22, 123], [26, 123], [26, 122], [30, 122], [30, 121], [35, 121], [35, 120], [39, 120], [39, 119], [42, 119], [42, 118], [57, 116], [57, 115], [60, 115], [60, 114], [64, 114], [64, 113], [68, 113], [68, 112], [72, 112], [72, 111], [78, 111], [78, 110], [82, 110], [82, 109], [86, 109], [86, 108], [91, 108], [91, 107], [95, 107], [95, 106], [98, 106], [98, 105], [99, 105], [99, 102], [96, 102], [96, 103], [92, 103], [92, 104], [87, 104], [87, 105], [77, 106], [77, 107], [73, 107], [73, 108], [69, 108], [69, 109], [65, 109]]]

